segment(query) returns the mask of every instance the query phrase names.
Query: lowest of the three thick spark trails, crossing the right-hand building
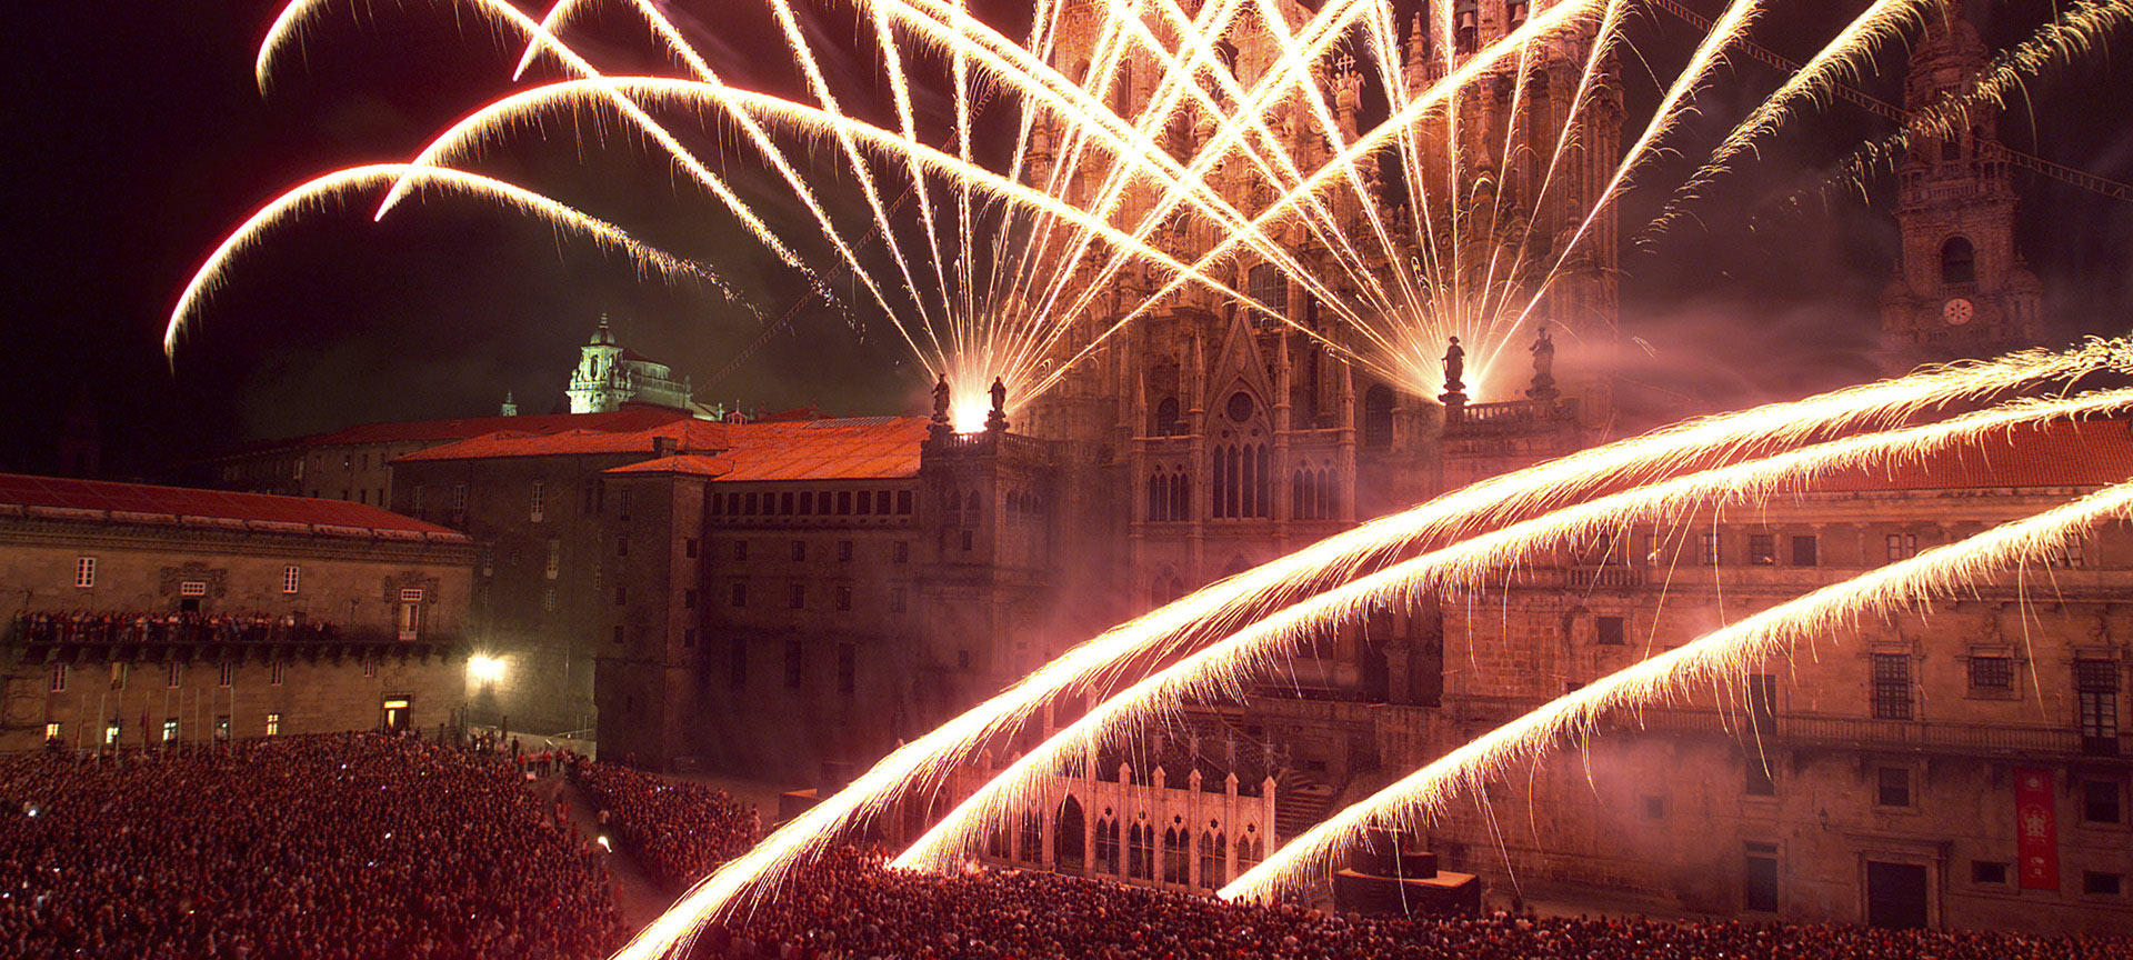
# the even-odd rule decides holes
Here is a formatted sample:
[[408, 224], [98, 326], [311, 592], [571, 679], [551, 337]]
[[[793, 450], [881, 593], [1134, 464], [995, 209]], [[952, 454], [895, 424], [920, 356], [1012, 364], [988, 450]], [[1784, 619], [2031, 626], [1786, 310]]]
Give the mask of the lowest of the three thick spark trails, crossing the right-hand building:
[[2124, 518], [2133, 510], [2133, 484], [2114, 484], [2071, 503], [2014, 521], [1973, 538], [1937, 546], [1851, 580], [1817, 589], [1805, 597], [1762, 610], [1732, 627], [1617, 670], [1563, 698], [1542, 704], [1480, 738], [1446, 753], [1399, 783], [1348, 806], [1280, 847], [1265, 862], [1237, 877], [1218, 896], [1267, 898], [1303, 883], [1327, 860], [1372, 826], [1427, 819], [1459, 791], [1480, 796], [1482, 787], [1519, 759], [1538, 759], [1551, 742], [1591, 736], [1602, 715], [1662, 704], [1696, 681], [1719, 683], [1747, 663], [1783, 655], [1817, 636], [1841, 636], [1860, 617], [1888, 617], [1920, 608], [2007, 567], [2041, 563], [2071, 535]]

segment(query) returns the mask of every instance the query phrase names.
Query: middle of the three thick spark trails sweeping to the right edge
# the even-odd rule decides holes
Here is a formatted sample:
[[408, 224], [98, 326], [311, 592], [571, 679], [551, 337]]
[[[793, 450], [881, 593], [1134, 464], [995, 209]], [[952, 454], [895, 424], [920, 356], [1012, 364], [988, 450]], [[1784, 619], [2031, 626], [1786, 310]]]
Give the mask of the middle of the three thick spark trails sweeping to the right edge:
[[1591, 542], [1608, 529], [1664, 521], [1685, 512], [1723, 510], [1764, 501], [1779, 486], [1811, 491], [1813, 478], [1834, 469], [1890, 467], [1994, 431], [2084, 418], [2133, 405], [2133, 388], [2099, 390], [2063, 401], [2011, 401], [1943, 422], [1866, 433], [1790, 450], [1777, 457], [1706, 469], [1674, 480], [1613, 493], [1531, 521], [1459, 540], [1453, 546], [1391, 565], [1340, 589], [1318, 593], [1231, 634], [1177, 663], [1113, 693], [1103, 704], [1032, 747], [934, 823], [894, 866], [949, 870], [1009, 809], [1028, 804], [1037, 777], [1071, 755], [1092, 749], [1116, 727], [1150, 723], [1158, 710], [1184, 700], [1241, 698], [1256, 676], [1267, 676], [1314, 634], [1359, 619], [1374, 604], [1412, 602], [1429, 591], [1474, 593], [1487, 580], [1563, 544]]

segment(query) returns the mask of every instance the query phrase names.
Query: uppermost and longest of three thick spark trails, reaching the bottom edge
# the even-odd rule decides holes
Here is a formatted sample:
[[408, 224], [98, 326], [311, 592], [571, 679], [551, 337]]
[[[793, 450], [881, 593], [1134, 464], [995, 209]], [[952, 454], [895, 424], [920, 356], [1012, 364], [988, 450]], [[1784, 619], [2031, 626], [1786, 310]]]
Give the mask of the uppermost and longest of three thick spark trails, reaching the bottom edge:
[[1410, 544], [1463, 535], [1517, 516], [1553, 510], [1625, 480], [1664, 478], [1685, 463], [1807, 444], [1860, 427], [1903, 422], [1962, 399], [2075, 378], [2095, 369], [2133, 369], [2133, 343], [2095, 339], [2069, 352], [2024, 352], [1992, 363], [1941, 367], [1901, 380], [1854, 386], [1796, 403], [1773, 403], [1668, 427], [1453, 491], [1404, 514], [1365, 523], [1267, 565], [1207, 585], [1169, 606], [1113, 627], [1007, 691], [896, 749], [849, 787], [821, 800], [749, 853], [723, 864], [665, 915], [646, 926], [619, 958], [646, 960], [695, 937], [697, 926], [749, 896], [766, 896], [791, 866], [817, 853], [849, 823], [926, 794], [975, 749], [1026, 721], [1071, 689], [1107, 687], [1124, 663], [1165, 657], [1203, 629], [1229, 629], [1256, 610], [1293, 604], [1348, 580]]

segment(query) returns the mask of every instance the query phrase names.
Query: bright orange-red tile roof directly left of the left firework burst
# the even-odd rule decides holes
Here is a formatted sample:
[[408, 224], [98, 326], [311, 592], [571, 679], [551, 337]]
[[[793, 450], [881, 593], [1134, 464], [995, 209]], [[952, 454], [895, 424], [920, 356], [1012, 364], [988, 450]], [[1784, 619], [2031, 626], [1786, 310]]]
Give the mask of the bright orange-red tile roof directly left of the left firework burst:
[[610, 474], [700, 474], [719, 482], [898, 480], [919, 474], [924, 416], [860, 416], [727, 425], [727, 446], [614, 467]]

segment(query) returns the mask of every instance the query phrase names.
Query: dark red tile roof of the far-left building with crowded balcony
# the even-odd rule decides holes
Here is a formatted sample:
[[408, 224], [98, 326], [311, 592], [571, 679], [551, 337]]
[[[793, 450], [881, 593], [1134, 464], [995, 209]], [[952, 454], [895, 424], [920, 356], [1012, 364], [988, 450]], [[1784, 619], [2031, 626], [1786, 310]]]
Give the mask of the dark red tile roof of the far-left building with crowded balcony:
[[0, 474], [0, 516], [237, 527], [277, 533], [465, 542], [465, 533], [367, 503], [188, 486]]

